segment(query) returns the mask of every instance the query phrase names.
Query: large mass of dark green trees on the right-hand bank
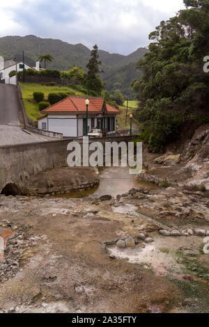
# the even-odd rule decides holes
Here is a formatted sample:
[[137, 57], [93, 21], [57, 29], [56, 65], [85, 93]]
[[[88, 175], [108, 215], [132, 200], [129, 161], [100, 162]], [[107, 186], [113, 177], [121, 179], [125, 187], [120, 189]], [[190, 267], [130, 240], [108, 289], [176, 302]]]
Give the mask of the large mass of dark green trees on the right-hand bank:
[[185, 10], [150, 33], [149, 51], [137, 63], [144, 74], [132, 82], [139, 99], [135, 118], [152, 151], [162, 150], [184, 126], [209, 121], [209, 73], [203, 72], [203, 58], [209, 56], [209, 1], [184, 3]]

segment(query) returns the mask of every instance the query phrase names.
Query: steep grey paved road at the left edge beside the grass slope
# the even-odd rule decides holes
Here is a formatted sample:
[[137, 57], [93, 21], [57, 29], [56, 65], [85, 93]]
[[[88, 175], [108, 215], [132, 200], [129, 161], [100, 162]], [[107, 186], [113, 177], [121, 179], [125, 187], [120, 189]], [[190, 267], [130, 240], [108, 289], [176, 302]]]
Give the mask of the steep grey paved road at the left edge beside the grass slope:
[[0, 84], [0, 124], [21, 125], [17, 90], [13, 85]]

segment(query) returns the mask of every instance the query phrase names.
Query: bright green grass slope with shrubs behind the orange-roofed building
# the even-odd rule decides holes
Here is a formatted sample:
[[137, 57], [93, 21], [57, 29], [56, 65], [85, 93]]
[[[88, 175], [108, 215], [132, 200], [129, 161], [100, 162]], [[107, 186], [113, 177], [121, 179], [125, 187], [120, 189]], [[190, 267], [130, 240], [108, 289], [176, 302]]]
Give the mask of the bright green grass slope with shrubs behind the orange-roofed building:
[[22, 98], [24, 101], [26, 114], [28, 118], [31, 118], [33, 120], [37, 120], [37, 118], [42, 116], [42, 113], [40, 113], [40, 110], [38, 109], [38, 103], [33, 100], [33, 92], [38, 91], [44, 93], [45, 101], [47, 101], [49, 93], [72, 92], [72, 94], [75, 95], [86, 96], [79, 90], [75, 90], [75, 88], [70, 88], [68, 86], [45, 86], [40, 83], [20, 83], [20, 88], [22, 90]]

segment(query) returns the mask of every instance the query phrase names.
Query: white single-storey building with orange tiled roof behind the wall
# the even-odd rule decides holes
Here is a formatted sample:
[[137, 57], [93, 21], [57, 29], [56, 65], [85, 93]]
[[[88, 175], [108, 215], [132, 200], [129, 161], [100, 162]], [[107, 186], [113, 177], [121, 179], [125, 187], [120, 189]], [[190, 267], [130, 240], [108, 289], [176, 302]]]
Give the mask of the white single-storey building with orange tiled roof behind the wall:
[[[70, 95], [42, 110], [45, 116], [38, 118], [38, 128], [54, 131], [64, 137], [86, 135], [86, 97]], [[103, 97], [88, 97], [88, 132], [102, 129], [103, 134], [116, 134], [116, 115], [120, 111], [106, 104]]]

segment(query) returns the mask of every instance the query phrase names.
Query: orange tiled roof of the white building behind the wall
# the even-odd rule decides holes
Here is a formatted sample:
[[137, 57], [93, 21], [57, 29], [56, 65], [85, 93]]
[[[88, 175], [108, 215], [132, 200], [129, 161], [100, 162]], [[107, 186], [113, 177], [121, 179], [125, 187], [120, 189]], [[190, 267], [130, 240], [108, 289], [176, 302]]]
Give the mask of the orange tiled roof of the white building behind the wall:
[[[49, 106], [47, 109], [42, 110], [42, 113], [85, 113], [86, 112], [86, 101], [87, 97], [77, 97], [74, 95], [70, 95], [65, 99]], [[103, 97], [88, 97], [89, 105], [88, 111], [89, 113], [100, 113], [102, 111], [102, 106], [104, 104]], [[115, 109], [109, 104], [106, 104], [107, 113], [119, 113], [118, 109]]]

